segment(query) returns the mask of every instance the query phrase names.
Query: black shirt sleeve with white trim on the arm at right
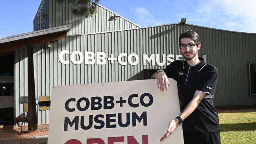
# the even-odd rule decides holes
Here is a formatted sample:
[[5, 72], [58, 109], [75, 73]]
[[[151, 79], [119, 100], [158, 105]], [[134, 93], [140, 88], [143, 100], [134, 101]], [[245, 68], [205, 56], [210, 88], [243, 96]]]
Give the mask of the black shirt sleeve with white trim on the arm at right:
[[205, 98], [213, 98], [216, 84], [218, 79], [218, 73], [217, 72], [209, 72], [205, 78], [200, 81], [200, 83], [197, 86], [196, 91], [208, 93], [206, 94]]

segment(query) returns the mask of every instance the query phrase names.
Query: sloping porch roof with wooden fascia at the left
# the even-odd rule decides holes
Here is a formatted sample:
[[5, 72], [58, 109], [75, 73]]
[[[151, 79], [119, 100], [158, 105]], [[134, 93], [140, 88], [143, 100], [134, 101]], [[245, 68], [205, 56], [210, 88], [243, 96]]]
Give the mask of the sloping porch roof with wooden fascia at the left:
[[70, 25], [48, 28], [45, 30], [32, 31], [19, 35], [0, 38], [0, 54], [10, 52], [27, 46], [41, 44], [50, 41], [56, 41], [67, 37], [67, 31], [71, 29]]

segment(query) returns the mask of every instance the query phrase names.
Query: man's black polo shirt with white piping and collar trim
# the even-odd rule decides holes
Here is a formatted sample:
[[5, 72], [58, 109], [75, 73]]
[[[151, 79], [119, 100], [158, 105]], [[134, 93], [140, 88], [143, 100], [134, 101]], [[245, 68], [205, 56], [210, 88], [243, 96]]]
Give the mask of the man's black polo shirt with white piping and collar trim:
[[194, 132], [219, 131], [219, 117], [214, 108], [213, 96], [217, 83], [217, 68], [201, 61], [190, 66], [185, 60], [176, 60], [164, 70], [168, 78], [177, 81], [180, 110], [183, 111], [196, 91], [207, 93], [197, 108], [184, 120], [183, 130]]

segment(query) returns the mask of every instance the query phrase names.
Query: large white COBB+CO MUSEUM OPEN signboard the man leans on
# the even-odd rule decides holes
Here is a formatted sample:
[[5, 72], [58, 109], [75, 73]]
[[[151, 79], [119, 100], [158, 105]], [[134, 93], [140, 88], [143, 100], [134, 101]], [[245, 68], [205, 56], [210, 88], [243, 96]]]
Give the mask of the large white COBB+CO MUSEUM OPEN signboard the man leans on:
[[53, 87], [48, 144], [183, 144], [182, 126], [160, 142], [180, 106], [176, 81], [156, 81]]

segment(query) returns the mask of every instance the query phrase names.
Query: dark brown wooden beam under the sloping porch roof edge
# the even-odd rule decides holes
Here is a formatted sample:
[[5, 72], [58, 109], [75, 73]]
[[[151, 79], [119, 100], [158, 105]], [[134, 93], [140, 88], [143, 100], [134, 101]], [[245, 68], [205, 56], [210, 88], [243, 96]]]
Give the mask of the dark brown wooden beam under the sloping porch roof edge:
[[61, 31], [53, 34], [40, 35], [32, 38], [20, 39], [17, 41], [0, 43], [0, 53], [10, 52], [27, 46], [33, 46], [35, 44], [41, 44], [50, 41], [57, 41], [67, 37], [67, 31]]

